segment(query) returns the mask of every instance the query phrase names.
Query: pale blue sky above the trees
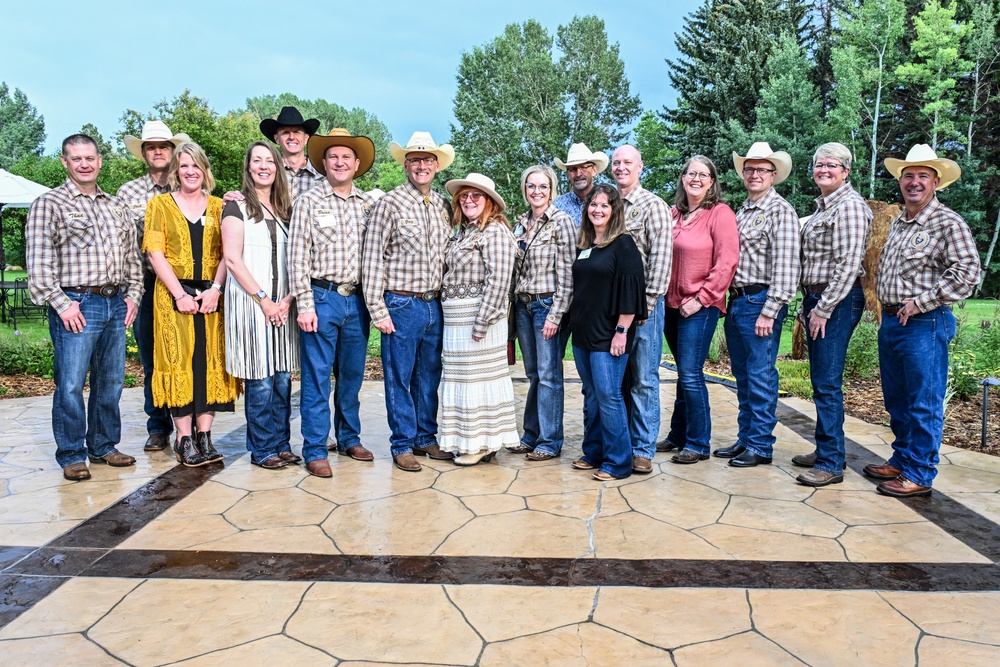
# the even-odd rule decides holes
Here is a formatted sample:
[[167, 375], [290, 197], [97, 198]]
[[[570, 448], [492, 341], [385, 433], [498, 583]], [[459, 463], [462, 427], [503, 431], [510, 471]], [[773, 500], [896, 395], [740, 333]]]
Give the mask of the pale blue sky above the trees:
[[258, 95], [324, 98], [375, 113], [397, 141], [419, 129], [443, 142], [461, 53], [532, 18], [555, 35], [574, 15], [601, 17], [643, 108], [673, 105], [664, 59], [696, 6], [18, 0], [3, 9], [0, 81], [45, 116], [46, 152], [87, 122], [110, 138], [125, 109], [148, 112], [185, 88], [220, 113]]

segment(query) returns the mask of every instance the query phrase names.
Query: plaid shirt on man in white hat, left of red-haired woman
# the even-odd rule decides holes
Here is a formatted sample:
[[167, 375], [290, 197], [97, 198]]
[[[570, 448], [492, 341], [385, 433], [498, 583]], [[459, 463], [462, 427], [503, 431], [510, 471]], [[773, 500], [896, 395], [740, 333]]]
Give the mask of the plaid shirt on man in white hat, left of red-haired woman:
[[451, 213], [436, 192], [426, 197], [407, 181], [380, 197], [368, 220], [361, 284], [372, 322], [389, 318], [387, 291], [441, 289]]

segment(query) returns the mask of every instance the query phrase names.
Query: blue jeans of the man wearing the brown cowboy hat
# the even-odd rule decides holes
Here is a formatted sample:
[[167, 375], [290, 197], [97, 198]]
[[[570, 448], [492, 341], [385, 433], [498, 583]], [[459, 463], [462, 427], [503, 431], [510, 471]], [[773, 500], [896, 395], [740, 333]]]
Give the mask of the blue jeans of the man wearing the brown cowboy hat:
[[337, 367], [333, 394], [337, 447], [361, 444], [361, 383], [365, 379], [371, 317], [360, 293], [341, 296], [313, 287], [316, 331], [300, 332], [302, 350], [302, 458], [306, 463], [327, 457], [330, 436], [330, 374]]

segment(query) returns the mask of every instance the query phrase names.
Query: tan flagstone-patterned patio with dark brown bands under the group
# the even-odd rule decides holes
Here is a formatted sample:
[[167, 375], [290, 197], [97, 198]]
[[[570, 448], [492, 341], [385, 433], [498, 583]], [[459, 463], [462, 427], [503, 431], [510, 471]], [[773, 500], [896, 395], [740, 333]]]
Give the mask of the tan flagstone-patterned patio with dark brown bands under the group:
[[[660, 454], [602, 484], [569, 465], [567, 375], [562, 458], [418, 474], [392, 466], [366, 382], [376, 460], [333, 456], [332, 480], [251, 466], [241, 405], [213, 429], [224, 467], [143, 453], [133, 389], [121, 448], [138, 465], [67, 482], [50, 399], [0, 401], [0, 663], [1000, 664], [1000, 459], [945, 448], [930, 498], [885, 498], [859, 473], [891, 434], [848, 418], [844, 483], [800, 486], [815, 413], [785, 399], [770, 466]], [[735, 394], [710, 395], [713, 445], [732, 444]]]

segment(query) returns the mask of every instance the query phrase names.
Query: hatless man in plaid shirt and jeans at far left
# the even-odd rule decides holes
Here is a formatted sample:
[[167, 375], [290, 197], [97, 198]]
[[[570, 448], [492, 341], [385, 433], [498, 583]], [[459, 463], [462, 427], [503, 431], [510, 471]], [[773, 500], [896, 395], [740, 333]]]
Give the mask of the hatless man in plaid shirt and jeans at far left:
[[97, 143], [85, 134], [67, 137], [62, 163], [66, 182], [32, 204], [25, 240], [31, 300], [49, 307], [56, 461], [66, 479], [79, 481], [90, 478], [88, 457], [112, 466], [135, 463], [116, 445], [125, 329], [139, 311], [142, 264], [129, 210], [97, 185]]

